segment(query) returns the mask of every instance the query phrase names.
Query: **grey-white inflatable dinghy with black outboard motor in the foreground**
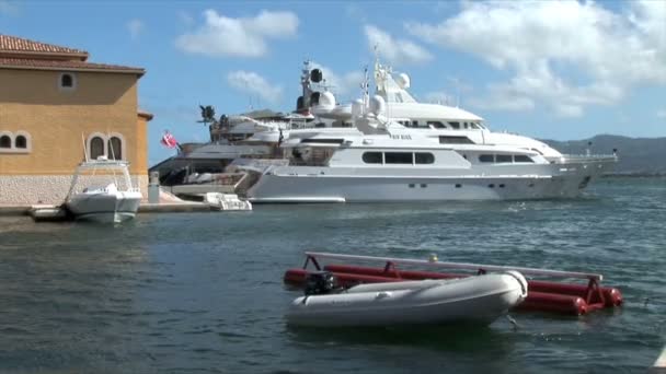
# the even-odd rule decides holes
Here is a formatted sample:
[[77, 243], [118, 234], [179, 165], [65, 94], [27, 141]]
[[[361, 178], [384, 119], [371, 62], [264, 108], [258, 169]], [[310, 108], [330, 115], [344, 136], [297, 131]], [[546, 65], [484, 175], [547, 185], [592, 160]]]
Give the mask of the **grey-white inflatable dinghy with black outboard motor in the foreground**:
[[[328, 292], [332, 276], [314, 276], [328, 279], [314, 281], [319, 287], [311, 287], [310, 292]], [[489, 325], [525, 297], [527, 281], [517, 271], [453, 280], [360, 284], [340, 293], [307, 294], [296, 299], [287, 313], [287, 323], [311, 327]]]

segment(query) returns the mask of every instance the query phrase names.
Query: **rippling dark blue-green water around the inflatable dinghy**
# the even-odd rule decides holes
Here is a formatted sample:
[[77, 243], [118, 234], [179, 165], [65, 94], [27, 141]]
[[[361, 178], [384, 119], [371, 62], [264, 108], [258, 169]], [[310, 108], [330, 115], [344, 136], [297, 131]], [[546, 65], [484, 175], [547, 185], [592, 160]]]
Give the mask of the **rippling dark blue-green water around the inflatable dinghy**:
[[[0, 218], [0, 372], [643, 373], [666, 338], [665, 223], [663, 178], [566, 201]], [[297, 330], [282, 277], [306, 249], [600, 272], [625, 305], [513, 313], [518, 329]]]

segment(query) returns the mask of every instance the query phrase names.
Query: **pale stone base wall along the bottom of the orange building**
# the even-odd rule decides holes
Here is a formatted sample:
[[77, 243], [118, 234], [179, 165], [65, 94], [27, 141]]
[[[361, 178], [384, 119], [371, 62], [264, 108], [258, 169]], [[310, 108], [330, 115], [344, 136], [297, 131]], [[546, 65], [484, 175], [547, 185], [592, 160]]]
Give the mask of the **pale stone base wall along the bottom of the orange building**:
[[[71, 175], [0, 175], [0, 204], [31, 206], [36, 203], [59, 204], [71, 186]], [[81, 175], [77, 189], [101, 187], [113, 179], [108, 175]], [[124, 188], [123, 177], [117, 177], [118, 188]], [[131, 183], [148, 199], [148, 175], [133, 175]]]

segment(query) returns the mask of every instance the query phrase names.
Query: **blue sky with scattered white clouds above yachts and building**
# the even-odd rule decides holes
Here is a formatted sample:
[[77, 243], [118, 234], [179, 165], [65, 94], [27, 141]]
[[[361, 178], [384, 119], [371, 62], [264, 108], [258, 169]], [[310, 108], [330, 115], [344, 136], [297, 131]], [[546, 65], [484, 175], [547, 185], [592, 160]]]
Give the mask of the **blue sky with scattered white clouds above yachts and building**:
[[150, 164], [164, 129], [203, 141], [218, 115], [294, 109], [308, 58], [340, 102], [377, 45], [423, 101], [460, 103], [537, 138], [666, 136], [666, 1], [343, 2], [0, 0], [0, 33], [142, 67]]

